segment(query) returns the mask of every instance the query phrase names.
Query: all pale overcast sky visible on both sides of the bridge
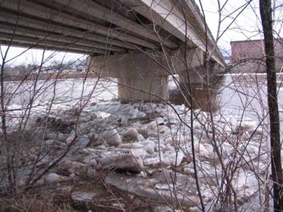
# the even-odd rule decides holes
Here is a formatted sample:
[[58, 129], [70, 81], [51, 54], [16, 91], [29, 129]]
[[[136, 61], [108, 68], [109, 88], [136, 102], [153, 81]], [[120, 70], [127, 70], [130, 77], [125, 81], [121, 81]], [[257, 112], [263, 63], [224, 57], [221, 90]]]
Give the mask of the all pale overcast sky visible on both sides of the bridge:
[[[199, 6], [200, 1], [202, 2], [207, 25], [212, 31], [214, 37], [216, 37], [219, 28], [218, 0], [195, 0]], [[262, 34], [260, 33], [261, 26], [258, 1], [259, 0], [253, 0], [250, 2], [250, 4], [247, 4], [248, 0], [219, 0], [221, 7], [226, 2], [221, 10], [221, 22], [219, 30], [219, 35], [221, 35], [221, 37], [218, 40], [220, 49], [229, 51], [231, 41], [262, 38]], [[283, 0], [275, 1], [277, 6], [283, 4]], [[279, 20], [277, 23], [275, 23], [275, 30], [281, 36], [282, 33], [280, 30], [282, 28], [282, 17], [283, 11], [281, 6], [275, 13], [275, 20]], [[6, 47], [1, 46], [1, 51], [5, 52]], [[18, 55], [21, 55], [21, 57], [17, 57]], [[11, 47], [11, 49], [9, 49], [8, 59], [16, 57], [16, 59], [13, 59], [9, 62], [11, 66], [16, 66], [19, 64], [40, 64], [42, 55], [42, 50], [40, 49], [31, 49], [27, 51], [24, 48]], [[64, 61], [69, 61], [81, 59], [82, 57], [83, 55], [81, 54], [64, 52], [47, 51], [44, 54], [44, 59], [46, 59], [48, 62], [52, 62], [54, 60], [62, 61], [62, 59], [64, 59]]]

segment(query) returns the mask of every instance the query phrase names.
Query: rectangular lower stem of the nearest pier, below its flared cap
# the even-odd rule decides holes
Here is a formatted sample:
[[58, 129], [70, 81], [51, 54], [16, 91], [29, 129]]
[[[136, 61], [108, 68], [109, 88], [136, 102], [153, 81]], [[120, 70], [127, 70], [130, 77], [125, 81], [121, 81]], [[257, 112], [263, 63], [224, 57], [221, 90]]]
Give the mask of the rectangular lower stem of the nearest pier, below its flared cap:
[[118, 78], [118, 83], [121, 102], [161, 102], [161, 98], [168, 99], [168, 76]]

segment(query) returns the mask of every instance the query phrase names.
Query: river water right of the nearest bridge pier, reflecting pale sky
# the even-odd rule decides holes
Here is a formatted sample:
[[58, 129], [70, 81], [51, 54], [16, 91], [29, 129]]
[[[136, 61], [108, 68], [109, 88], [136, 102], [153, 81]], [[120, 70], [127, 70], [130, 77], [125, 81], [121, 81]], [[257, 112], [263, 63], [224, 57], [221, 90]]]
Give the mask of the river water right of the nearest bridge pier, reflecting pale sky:
[[[278, 105], [280, 125], [283, 129], [283, 74], [277, 75]], [[175, 85], [171, 83], [171, 102], [180, 105], [185, 104], [185, 98]], [[207, 99], [207, 93], [211, 95]], [[267, 78], [266, 74], [226, 74], [216, 81], [212, 86], [204, 84], [193, 85], [192, 90], [193, 109], [208, 111], [208, 105], [212, 105], [212, 111], [226, 116], [248, 117], [258, 123], [268, 124], [267, 104]], [[187, 99], [189, 95], [187, 95]]]

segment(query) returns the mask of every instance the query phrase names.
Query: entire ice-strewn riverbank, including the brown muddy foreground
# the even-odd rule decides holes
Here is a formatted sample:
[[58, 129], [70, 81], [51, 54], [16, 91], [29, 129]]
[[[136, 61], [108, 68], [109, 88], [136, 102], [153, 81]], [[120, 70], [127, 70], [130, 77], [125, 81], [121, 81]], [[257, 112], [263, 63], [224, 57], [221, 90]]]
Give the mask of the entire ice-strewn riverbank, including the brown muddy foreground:
[[36, 127], [44, 137], [23, 150], [19, 186], [30, 176], [30, 161], [37, 161], [40, 175], [67, 153], [35, 184], [56, 184], [75, 208], [125, 211], [137, 201], [132, 210], [198, 211], [201, 192], [209, 211], [224, 195], [225, 172], [233, 172], [230, 183], [239, 203], [257, 194], [258, 178], [265, 174], [262, 129], [243, 117], [216, 114], [213, 128], [207, 113], [191, 113], [184, 105], [107, 102], [83, 110], [57, 108], [48, 116], [36, 111], [29, 129]]

